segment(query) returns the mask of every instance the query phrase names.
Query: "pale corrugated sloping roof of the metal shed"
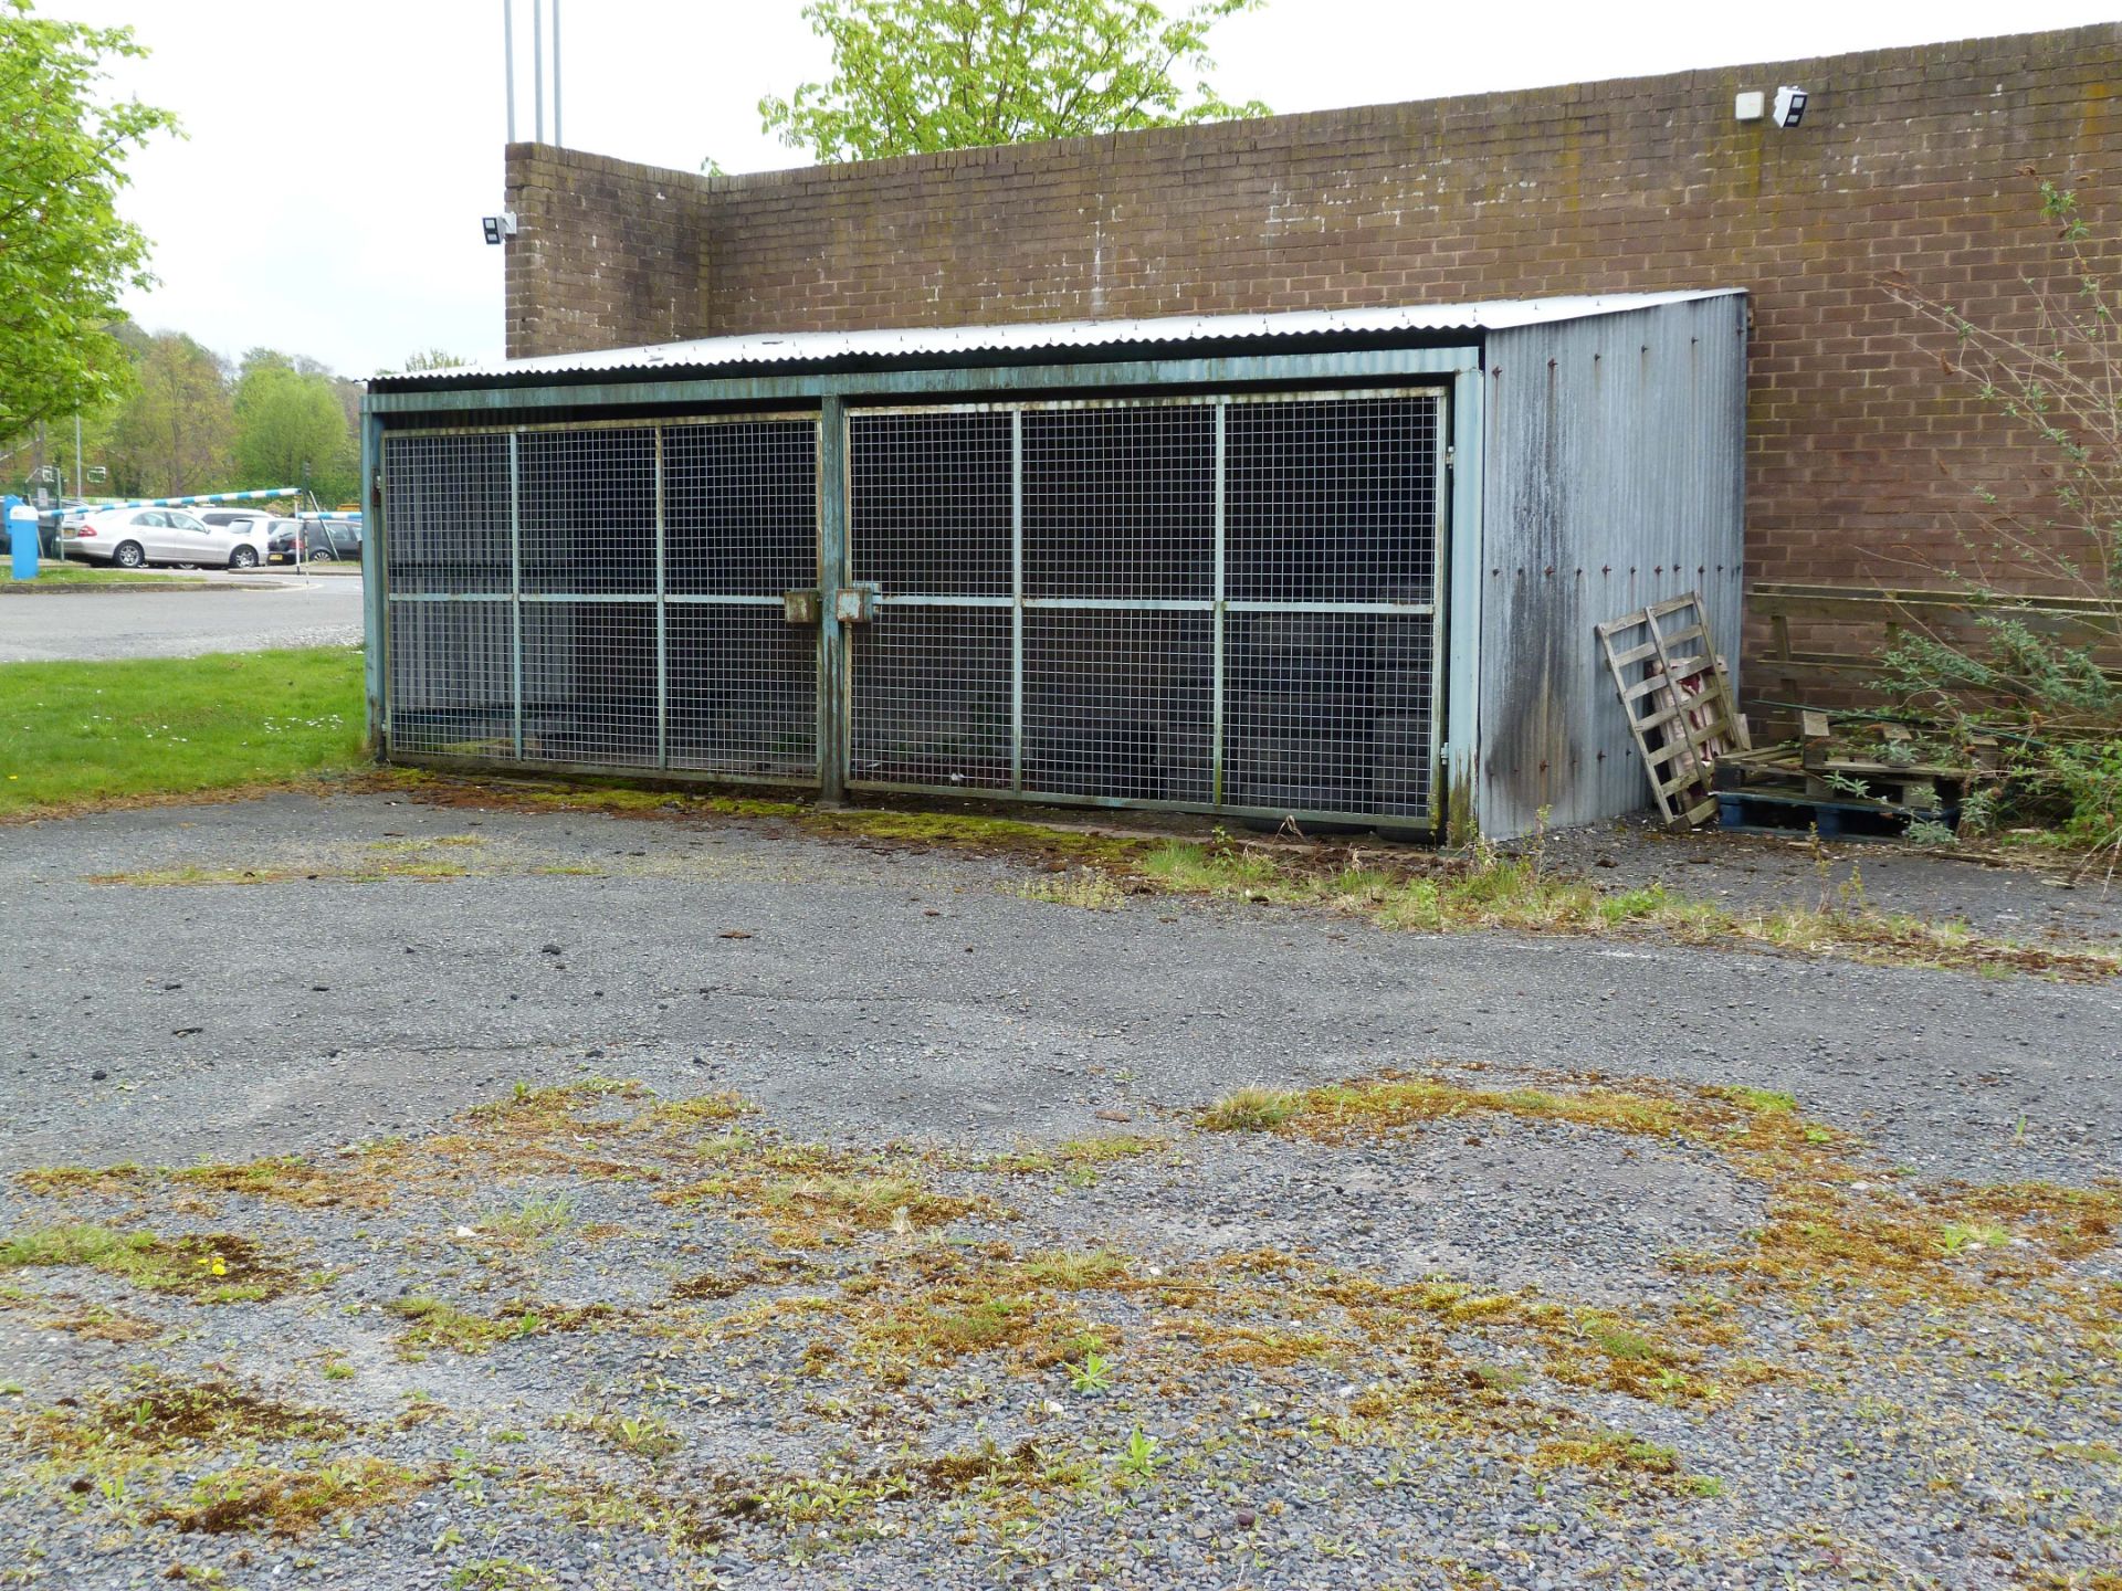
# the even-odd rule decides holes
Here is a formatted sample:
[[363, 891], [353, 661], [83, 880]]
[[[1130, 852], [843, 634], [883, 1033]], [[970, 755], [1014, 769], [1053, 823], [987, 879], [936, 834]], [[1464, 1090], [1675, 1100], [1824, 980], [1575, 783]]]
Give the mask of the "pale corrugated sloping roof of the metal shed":
[[1369, 310], [1286, 310], [1277, 314], [1184, 314], [1152, 320], [1046, 320], [1006, 327], [915, 327], [885, 331], [762, 331], [741, 337], [700, 337], [647, 348], [607, 348], [586, 354], [509, 359], [499, 365], [380, 375], [378, 386], [463, 384], [477, 380], [596, 373], [675, 371], [732, 365], [813, 365], [845, 359], [938, 359], [949, 354], [1050, 354], [1067, 348], [1129, 348], [1186, 342], [1246, 342], [1252, 337], [1347, 337], [1379, 333], [1500, 331], [1549, 320], [1621, 314], [1657, 303], [1721, 297], [1740, 289], [1691, 293], [1613, 293], [1604, 297], [1496, 299], [1490, 303], [1407, 303]]

